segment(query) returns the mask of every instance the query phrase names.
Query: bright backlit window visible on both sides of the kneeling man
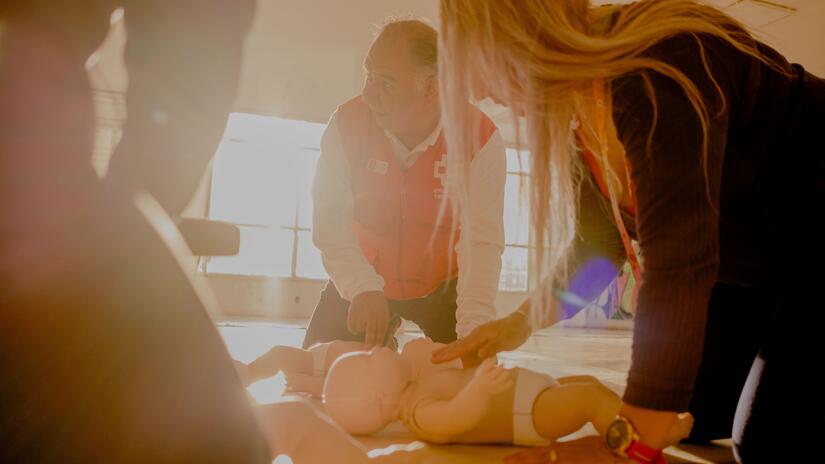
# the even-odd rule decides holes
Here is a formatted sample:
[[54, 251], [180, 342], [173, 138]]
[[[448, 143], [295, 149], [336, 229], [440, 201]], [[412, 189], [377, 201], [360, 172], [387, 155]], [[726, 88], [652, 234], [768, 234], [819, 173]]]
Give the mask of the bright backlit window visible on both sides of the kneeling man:
[[[210, 219], [241, 229], [237, 256], [208, 258], [207, 273], [326, 279], [312, 244], [312, 178], [324, 124], [230, 115], [212, 168]], [[520, 201], [525, 154], [507, 150], [505, 242], [499, 289], [527, 291], [529, 216]]]

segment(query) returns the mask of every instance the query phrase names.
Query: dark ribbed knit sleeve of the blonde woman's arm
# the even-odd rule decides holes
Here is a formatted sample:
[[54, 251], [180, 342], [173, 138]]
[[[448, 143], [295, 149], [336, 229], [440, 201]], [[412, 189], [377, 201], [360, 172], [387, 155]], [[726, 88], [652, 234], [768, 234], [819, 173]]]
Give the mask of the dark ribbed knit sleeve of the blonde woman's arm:
[[[613, 82], [614, 121], [630, 163], [643, 259], [624, 400], [650, 409], [687, 410], [719, 270], [728, 117], [717, 114], [721, 100], [705, 71], [702, 48], [695, 37], [677, 36], [648, 54], [680, 70], [702, 93], [711, 117], [706, 158], [700, 119], [674, 80], [649, 72], [653, 99], [642, 76]], [[707, 58], [727, 92], [724, 64], [712, 50]]]

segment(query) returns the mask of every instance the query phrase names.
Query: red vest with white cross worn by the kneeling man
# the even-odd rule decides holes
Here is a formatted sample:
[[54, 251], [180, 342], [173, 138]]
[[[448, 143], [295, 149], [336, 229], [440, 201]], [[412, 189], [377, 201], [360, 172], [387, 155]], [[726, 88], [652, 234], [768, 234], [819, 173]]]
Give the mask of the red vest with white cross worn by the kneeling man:
[[[483, 147], [496, 126], [472, 110], [481, 115]], [[460, 232], [451, 240], [451, 208], [438, 221], [447, 172], [444, 134], [405, 171], [362, 97], [338, 107], [337, 121], [352, 169], [352, 228], [364, 256], [384, 279], [384, 295], [410, 300], [431, 294], [458, 275], [454, 245]]]

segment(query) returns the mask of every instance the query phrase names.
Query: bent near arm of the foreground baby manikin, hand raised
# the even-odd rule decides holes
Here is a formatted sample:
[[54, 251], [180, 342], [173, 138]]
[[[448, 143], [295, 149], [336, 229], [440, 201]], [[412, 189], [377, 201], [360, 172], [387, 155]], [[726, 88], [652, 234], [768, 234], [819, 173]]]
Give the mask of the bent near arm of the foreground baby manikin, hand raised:
[[423, 400], [413, 410], [412, 419], [416, 426], [434, 442], [449, 442], [452, 437], [471, 430], [478, 425], [490, 399], [512, 387], [510, 372], [495, 361], [486, 359], [476, 369], [475, 376], [452, 399]]

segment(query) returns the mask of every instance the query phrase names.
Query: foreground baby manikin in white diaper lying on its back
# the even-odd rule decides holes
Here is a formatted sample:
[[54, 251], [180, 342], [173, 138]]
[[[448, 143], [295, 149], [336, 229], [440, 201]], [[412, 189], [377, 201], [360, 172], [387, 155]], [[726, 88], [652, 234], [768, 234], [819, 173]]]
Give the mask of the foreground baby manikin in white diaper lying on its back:
[[[424, 343], [424, 342], [420, 342]], [[431, 342], [430, 342], [431, 343]], [[411, 353], [430, 353], [413, 346]], [[344, 354], [323, 388], [330, 417], [346, 431], [368, 435], [400, 420], [433, 443], [545, 444], [587, 422], [603, 434], [621, 407], [613, 391], [590, 376], [558, 380], [527, 369], [504, 369], [492, 359], [478, 368], [428, 368], [417, 356], [387, 348]], [[672, 443], [692, 425], [681, 415]]]

